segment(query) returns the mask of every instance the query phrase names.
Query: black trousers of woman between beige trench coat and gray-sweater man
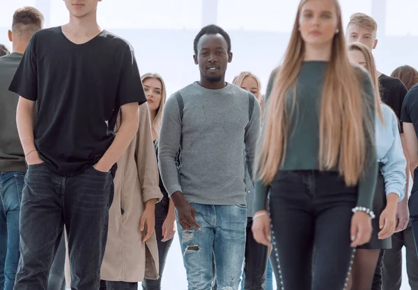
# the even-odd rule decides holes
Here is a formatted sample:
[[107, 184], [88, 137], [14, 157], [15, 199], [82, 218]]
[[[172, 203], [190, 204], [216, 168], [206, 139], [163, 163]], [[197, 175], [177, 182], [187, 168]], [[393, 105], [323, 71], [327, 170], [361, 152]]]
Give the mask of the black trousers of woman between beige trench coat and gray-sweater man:
[[[157, 236], [158, 246], [158, 260], [160, 262], [160, 278], [158, 280], [144, 279], [142, 282], [142, 289], [144, 290], [160, 290], [161, 289], [161, 278], [164, 271], [165, 261], [169, 254], [169, 249], [173, 239], [162, 242], [162, 224], [167, 218], [169, 212], [169, 198], [164, 197], [161, 202], [155, 204], [155, 236]], [[110, 289], [108, 289], [110, 290]], [[116, 290], [116, 289], [115, 289]]]

